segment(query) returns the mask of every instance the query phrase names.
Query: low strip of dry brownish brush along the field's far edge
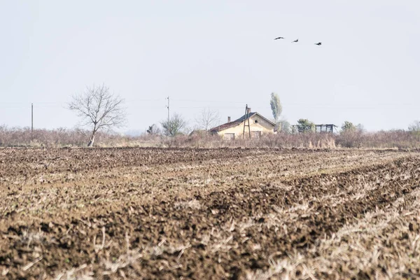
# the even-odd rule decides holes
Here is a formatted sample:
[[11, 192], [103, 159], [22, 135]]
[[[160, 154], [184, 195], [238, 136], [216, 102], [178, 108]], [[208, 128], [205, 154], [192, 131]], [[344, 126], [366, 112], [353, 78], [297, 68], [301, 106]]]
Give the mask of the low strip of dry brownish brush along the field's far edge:
[[[0, 146], [64, 147], [87, 146], [89, 131], [58, 128], [55, 130], [34, 130], [30, 127], [0, 126]], [[33, 139], [32, 139], [33, 137]], [[165, 137], [147, 134], [129, 137], [116, 133], [98, 132], [95, 146], [161, 146], [161, 147], [283, 147], [283, 148], [420, 148], [420, 132], [390, 130], [363, 132], [360, 130], [329, 133], [281, 133], [269, 134], [258, 139], [223, 140], [209, 134], [177, 135]]]

